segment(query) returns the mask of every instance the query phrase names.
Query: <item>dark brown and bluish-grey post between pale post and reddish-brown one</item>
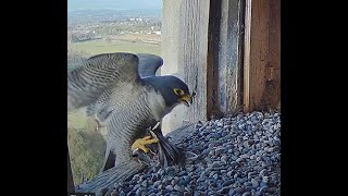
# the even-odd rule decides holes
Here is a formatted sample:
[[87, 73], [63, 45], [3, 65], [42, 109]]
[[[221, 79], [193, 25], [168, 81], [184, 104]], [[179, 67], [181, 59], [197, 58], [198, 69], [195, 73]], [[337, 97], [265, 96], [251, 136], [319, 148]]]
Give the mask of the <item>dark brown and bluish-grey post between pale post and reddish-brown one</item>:
[[208, 66], [210, 114], [235, 113], [243, 105], [243, 0], [211, 1]]

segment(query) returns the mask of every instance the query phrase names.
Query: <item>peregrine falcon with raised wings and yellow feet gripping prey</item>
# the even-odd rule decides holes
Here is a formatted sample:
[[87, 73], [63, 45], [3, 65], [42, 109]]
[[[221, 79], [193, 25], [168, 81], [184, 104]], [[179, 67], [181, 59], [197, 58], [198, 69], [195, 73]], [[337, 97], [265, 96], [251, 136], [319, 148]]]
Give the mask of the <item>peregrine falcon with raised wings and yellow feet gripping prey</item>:
[[[107, 131], [102, 171], [113, 166], [136, 166], [133, 150], [148, 152], [146, 145], [154, 143], [160, 143], [163, 156], [173, 162], [179, 159], [177, 148], [157, 125], [174, 107], [189, 107], [191, 95], [179, 78], [156, 76], [162, 64], [162, 58], [154, 54], [103, 53], [67, 74], [69, 111], [87, 107], [87, 114]], [[148, 127], [153, 127], [154, 138], [146, 135]]]

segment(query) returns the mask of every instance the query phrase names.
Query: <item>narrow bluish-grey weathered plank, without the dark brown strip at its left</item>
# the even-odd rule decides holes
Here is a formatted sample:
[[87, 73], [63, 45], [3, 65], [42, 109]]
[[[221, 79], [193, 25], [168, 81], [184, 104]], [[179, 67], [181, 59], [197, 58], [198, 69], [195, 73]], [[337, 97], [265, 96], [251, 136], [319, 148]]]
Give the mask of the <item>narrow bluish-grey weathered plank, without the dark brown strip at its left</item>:
[[219, 100], [224, 114], [237, 112], [243, 102], [243, 0], [222, 0], [219, 47]]

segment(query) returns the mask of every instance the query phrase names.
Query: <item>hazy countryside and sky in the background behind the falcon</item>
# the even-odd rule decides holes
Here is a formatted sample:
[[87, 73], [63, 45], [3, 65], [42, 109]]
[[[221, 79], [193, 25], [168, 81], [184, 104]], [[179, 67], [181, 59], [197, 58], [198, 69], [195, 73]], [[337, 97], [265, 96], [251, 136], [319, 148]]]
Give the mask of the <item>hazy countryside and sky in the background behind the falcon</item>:
[[[144, 3], [149, 2], [69, 0], [67, 70], [78, 66], [83, 59], [105, 52], [160, 54], [162, 1]], [[74, 182], [79, 184], [100, 171], [104, 142], [95, 122], [86, 118], [85, 109], [67, 117], [67, 139]]]

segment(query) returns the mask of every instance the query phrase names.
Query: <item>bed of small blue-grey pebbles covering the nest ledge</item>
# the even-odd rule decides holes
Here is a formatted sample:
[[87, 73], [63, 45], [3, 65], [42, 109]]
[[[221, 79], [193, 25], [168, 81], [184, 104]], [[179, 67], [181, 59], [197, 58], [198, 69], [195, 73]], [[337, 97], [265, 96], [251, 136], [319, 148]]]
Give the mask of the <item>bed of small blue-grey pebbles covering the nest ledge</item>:
[[176, 146], [191, 158], [149, 168], [107, 195], [281, 195], [281, 113], [199, 122]]

